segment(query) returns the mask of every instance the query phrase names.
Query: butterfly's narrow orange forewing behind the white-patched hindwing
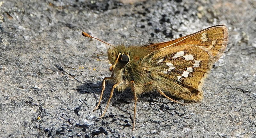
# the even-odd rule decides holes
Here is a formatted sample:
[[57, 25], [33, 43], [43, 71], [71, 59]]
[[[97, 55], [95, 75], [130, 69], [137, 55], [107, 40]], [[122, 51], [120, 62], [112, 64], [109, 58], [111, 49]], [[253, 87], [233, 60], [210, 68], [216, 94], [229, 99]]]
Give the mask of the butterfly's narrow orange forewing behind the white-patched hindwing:
[[228, 28], [225, 25], [216, 25], [205, 28], [194, 34], [189, 34], [167, 42], [148, 44], [143, 47], [149, 50], [175, 47], [185, 44], [200, 45], [211, 50], [214, 60], [217, 61], [226, 50], [228, 44]]

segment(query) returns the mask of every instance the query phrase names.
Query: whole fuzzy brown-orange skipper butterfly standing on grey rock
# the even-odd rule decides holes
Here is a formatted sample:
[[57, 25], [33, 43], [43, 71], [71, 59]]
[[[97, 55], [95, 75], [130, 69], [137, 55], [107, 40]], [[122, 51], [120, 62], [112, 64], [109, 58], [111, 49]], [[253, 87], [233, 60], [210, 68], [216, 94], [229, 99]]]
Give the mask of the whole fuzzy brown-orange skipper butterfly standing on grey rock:
[[[84, 32], [82, 35], [97, 39]], [[108, 44], [111, 46], [108, 60], [112, 64], [109, 68], [112, 74], [103, 80], [100, 101], [106, 82], [114, 86], [101, 117], [107, 111], [114, 89], [124, 91], [131, 88], [135, 101], [132, 130], [135, 127], [137, 97], [143, 93], [156, 91], [178, 104], [184, 103], [169, 96], [186, 102], [200, 101], [203, 98], [204, 81], [213, 64], [226, 50], [227, 44], [228, 29], [225, 25], [208, 27], [178, 39], [144, 46]], [[99, 107], [100, 101], [94, 110]]]

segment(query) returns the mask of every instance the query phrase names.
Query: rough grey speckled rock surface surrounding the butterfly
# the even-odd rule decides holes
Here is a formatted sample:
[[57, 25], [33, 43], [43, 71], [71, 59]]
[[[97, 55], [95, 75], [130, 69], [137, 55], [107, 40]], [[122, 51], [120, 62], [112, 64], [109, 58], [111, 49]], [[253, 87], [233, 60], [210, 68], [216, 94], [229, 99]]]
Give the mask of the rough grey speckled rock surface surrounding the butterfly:
[[[122, 3], [123, 2], [123, 3]], [[255, 0], [0, 0], [0, 137], [256, 136]], [[225, 24], [228, 47], [204, 85], [204, 99], [183, 106], [157, 93], [133, 95], [111, 84], [110, 44], [169, 41]], [[180, 100], [182, 102], [182, 100]]]

